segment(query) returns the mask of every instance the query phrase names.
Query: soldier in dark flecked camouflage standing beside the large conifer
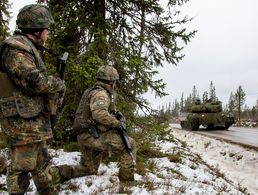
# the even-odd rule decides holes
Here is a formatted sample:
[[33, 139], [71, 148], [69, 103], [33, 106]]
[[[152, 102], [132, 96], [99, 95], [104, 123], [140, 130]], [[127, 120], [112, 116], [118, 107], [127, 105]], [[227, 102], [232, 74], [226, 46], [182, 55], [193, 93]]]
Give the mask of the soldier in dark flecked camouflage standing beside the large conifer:
[[58, 102], [55, 98], [64, 94], [65, 85], [47, 74], [37, 49], [47, 40], [52, 23], [46, 6], [27, 5], [17, 16], [18, 30], [1, 47], [0, 122], [10, 150], [10, 194], [26, 193], [29, 173], [39, 194], [55, 194], [46, 145], [52, 139], [49, 102]]

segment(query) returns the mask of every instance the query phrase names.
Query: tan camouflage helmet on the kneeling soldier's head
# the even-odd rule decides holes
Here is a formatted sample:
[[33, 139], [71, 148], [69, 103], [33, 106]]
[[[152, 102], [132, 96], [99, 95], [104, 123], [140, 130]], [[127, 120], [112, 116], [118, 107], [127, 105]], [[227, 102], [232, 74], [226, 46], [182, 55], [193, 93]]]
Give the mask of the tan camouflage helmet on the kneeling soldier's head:
[[114, 82], [119, 79], [119, 75], [113, 66], [101, 66], [97, 71], [96, 79], [100, 81]]

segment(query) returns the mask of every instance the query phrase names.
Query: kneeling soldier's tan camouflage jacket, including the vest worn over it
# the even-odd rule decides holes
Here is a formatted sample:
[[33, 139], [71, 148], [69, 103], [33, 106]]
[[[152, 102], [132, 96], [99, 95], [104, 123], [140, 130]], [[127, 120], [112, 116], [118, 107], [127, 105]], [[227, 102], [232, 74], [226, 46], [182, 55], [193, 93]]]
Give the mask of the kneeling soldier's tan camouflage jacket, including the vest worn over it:
[[97, 82], [93, 88], [85, 90], [76, 111], [74, 126], [90, 123], [102, 132], [119, 127], [119, 121], [111, 114], [111, 104], [111, 94], [101, 82]]

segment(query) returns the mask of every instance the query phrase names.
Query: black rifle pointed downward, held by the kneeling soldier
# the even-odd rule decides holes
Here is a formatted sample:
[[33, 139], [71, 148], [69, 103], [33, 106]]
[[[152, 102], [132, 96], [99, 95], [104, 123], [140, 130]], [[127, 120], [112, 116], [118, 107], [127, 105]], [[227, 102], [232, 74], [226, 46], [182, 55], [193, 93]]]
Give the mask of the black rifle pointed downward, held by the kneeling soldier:
[[117, 131], [125, 145], [125, 149], [126, 151], [128, 152], [128, 154], [131, 156], [132, 158], [132, 161], [133, 161], [133, 165], [135, 166], [136, 165], [136, 161], [133, 157], [133, 153], [132, 153], [132, 146], [129, 142], [129, 137], [128, 137], [128, 134], [126, 132], [126, 124], [125, 124], [125, 118], [124, 116], [121, 114], [121, 112], [112, 112], [113, 116], [116, 117], [117, 120], [119, 120], [120, 122], [120, 127], [117, 128]]

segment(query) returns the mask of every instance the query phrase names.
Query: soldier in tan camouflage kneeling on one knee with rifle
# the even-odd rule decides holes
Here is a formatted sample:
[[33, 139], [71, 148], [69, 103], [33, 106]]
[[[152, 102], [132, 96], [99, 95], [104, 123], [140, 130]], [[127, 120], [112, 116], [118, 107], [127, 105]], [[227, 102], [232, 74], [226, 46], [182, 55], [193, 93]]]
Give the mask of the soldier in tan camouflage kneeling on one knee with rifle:
[[[120, 156], [120, 181], [134, 180], [134, 163], [125, 149], [117, 132], [120, 122], [111, 113], [114, 109], [114, 86], [119, 79], [117, 70], [112, 66], [102, 66], [96, 75], [96, 84], [85, 90], [78, 106], [73, 129], [79, 131], [78, 142], [81, 148], [81, 162], [78, 166], [59, 166], [62, 180], [84, 175], [96, 175], [102, 153]], [[89, 126], [96, 127], [90, 132]], [[91, 129], [91, 130], [94, 130]], [[129, 137], [135, 159], [135, 141]]]

